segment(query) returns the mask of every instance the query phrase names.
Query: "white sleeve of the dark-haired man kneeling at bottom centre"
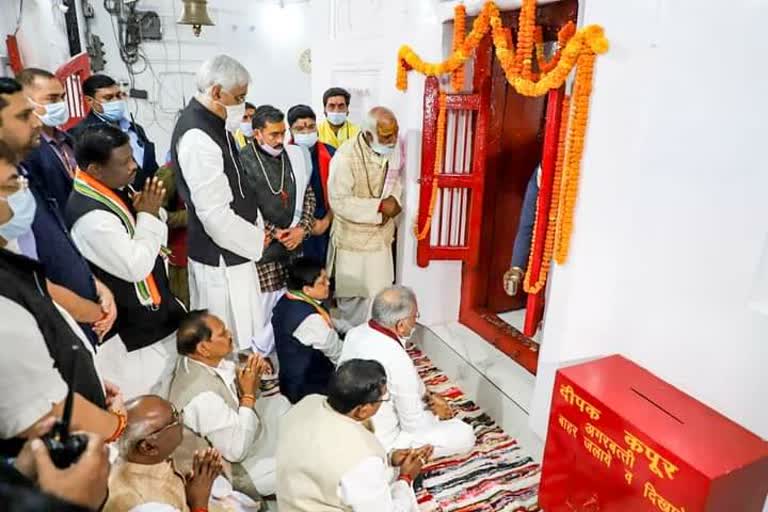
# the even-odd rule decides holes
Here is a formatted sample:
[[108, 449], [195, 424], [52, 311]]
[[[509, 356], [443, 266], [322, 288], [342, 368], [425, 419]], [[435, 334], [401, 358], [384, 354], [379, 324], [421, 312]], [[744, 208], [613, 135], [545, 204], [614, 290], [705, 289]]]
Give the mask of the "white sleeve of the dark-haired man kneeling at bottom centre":
[[367, 457], [341, 478], [339, 497], [354, 512], [417, 512], [413, 489], [389, 478], [384, 461]]

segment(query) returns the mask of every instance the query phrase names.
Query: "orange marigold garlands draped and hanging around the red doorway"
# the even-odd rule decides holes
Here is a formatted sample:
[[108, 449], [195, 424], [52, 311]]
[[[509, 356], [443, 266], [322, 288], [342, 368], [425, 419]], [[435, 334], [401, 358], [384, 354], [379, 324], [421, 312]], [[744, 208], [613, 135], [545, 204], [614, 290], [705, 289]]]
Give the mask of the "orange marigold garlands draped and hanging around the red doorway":
[[[399, 90], [405, 91], [408, 88], [408, 71], [410, 70], [418, 71], [427, 76], [452, 73], [451, 81], [454, 84], [454, 89], [456, 89], [454, 81], [458, 81], [458, 75], [463, 73], [465, 62], [478, 48], [480, 41], [489, 31], [495, 47], [496, 58], [501, 64], [507, 81], [521, 95], [543, 96], [551, 89], [558, 89], [563, 86], [571, 71], [577, 68], [573, 95], [570, 102], [566, 103], [570, 111], [564, 110], [563, 124], [558, 134], [561, 138], [558, 141], [558, 165], [561, 170], [555, 176], [557, 187], [553, 194], [557, 194], [557, 201], [553, 201], [552, 204], [557, 205], [557, 207], [556, 209], [552, 208], [555, 213], [554, 216], [550, 214], [547, 225], [545, 257], [537, 282], [531, 285], [530, 277], [526, 275], [524, 283], [526, 291], [530, 289], [536, 291], [529, 293], [538, 293], [546, 282], [552, 252], [554, 251], [555, 261], [559, 264], [565, 263], [568, 257], [573, 229], [573, 211], [578, 194], [581, 158], [584, 151], [584, 136], [589, 117], [589, 98], [592, 93], [595, 57], [597, 54], [608, 51], [608, 40], [605, 38], [603, 28], [599, 25], [589, 25], [576, 30], [575, 25], [569, 22], [558, 32], [557, 52], [552, 59], [545, 62], [543, 37], [541, 37], [540, 31], [537, 31], [535, 24], [536, 0], [523, 0], [518, 22], [517, 46], [512, 42], [511, 31], [503, 26], [499, 9], [494, 2], [486, 2], [480, 14], [475, 18], [472, 30], [463, 39], [458, 29], [466, 23], [466, 12], [464, 11], [464, 17], [458, 20], [462, 17], [459, 14], [460, 10], [464, 11], [464, 6], [461, 4], [456, 9], [454, 49], [446, 60], [439, 63], [424, 62], [410, 46], [400, 47], [396, 80]], [[461, 33], [463, 33], [463, 29]], [[533, 71], [534, 58], [537, 59], [538, 74], [534, 74]], [[459, 71], [460, 68], [462, 71]], [[441, 171], [445, 149], [444, 93], [441, 93], [440, 102], [435, 175]], [[566, 139], [564, 144], [562, 143], [563, 137]], [[414, 227], [414, 232], [419, 240], [423, 240], [429, 234], [432, 215], [437, 202], [437, 189], [437, 186], [432, 189], [429, 213], [424, 227], [421, 230], [418, 229], [418, 225]]]

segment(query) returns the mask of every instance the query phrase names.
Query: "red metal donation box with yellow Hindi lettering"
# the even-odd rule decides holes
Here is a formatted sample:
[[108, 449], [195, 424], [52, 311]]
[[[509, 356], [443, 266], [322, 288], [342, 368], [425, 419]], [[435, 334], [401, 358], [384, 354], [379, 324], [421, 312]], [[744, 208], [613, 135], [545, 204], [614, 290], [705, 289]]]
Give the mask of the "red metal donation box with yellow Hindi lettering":
[[633, 362], [557, 372], [544, 512], [760, 512], [767, 492], [768, 443]]

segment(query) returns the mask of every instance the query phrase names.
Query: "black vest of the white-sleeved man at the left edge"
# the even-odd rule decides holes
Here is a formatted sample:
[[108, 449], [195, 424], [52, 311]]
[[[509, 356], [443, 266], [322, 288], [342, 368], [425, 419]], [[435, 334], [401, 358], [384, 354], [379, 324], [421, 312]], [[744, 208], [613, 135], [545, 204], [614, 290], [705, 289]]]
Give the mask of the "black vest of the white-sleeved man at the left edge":
[[[89, 402], [106, 409], [104, 390], [93, 365], [93, 357], [51, 301], [43, 266], [35, 260], [0, 249], [0, 295], [35, 317], [48, 352], [65, 382], [77, 357], [76, 380], [67, 384]], [[2, 321], [12, 322], [13, 319], [3, 318]], [[2, 341], [6, 350], [13, 350], [16, 340]], [[73, 351], [73, 345], [79, 350]], [[5, 389], [3, 393], [13, 393], [13, 390]]]

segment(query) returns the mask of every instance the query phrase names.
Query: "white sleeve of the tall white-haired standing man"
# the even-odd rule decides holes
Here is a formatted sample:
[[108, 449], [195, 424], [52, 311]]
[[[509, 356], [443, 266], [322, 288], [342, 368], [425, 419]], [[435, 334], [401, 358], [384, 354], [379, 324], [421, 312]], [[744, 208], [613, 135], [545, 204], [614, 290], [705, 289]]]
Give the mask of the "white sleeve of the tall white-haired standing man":
[[[264, 230], [231, 208], [234, 200], [224, 174], [221, 148], [202, 130], [192, 129], [179, 141], [179, 168], [189, 187], [192, 204], [208, 236], [219, 247], [258, 261], [264, 250]], [[240, 186], [246, 187], [245, 176]], [[236, 191], [239, 193], [239, 191]]]

